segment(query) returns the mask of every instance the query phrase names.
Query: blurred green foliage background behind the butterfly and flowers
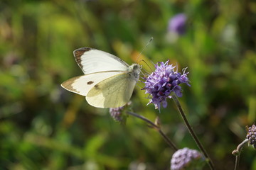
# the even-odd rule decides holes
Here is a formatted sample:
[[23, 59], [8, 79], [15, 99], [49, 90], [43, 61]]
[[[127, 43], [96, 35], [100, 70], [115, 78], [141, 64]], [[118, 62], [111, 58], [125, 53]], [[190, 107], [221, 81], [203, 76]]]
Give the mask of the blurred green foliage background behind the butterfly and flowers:
[[[169, 36], [177, 13], [186, 33]], [[142, 120], [114, 122], [108, 109], [60, 84], [82, 75], [73, 50], [94, 47], [129, 64], [148, 61], [188, 67], [181, 104], [216, 169], [233, 169], [233, 149], [256, 113], [256, 2], [108, 0], [0, 2], [0, 169], [170, 169], [174, 151]], [[150, 63], [150, 62], [149, 62]], [[161, 113], [137, 86], [134, 112], [154, 121], [179, 148], [196, 149], [169, 100]], [[256, 169], [245, 147], [240, 169]], [[208, 167], [206, 166], [206, 169]]]

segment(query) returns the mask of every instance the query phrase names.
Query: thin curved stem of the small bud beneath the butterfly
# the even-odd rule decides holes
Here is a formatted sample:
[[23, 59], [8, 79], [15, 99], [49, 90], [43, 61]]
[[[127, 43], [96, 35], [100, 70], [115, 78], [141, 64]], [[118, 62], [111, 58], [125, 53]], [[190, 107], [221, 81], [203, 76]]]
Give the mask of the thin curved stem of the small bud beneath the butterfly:
[[140, 118], [141, 120], [144, 120], [146, 123], [149, 123], [149, 125], [154, 128], [155, 130], [157, 130], [161, 137], [164, 138], [164, 140], [167, 142], [167, 144], [172, 148], [174, 149], [174, 151], [177, 151], [178, 148], [174, 145], [174, 142], [171, 142], [171, 140], [164, 134], [163, 131], [161, 131], [161, 128], [159, 127], [159, 125], [156, 125], [155, 123], [151, 122], [151, 120], [145, 118], [144, 116], [142, 115], [138, 115], [137, 113], [133, 113], [133, 112], [129, 112], [127, 111], [127, 114], [129, 115], [133, 115], [134, 117], [136, 118]]

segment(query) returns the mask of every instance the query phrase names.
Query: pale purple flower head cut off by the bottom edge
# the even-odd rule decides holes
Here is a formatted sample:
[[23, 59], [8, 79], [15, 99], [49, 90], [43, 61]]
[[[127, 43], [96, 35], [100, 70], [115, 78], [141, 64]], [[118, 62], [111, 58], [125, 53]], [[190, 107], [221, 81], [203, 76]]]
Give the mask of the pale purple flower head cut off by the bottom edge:
[[203, 155], [194, 149], [178, 149], [171, 158], [171, 170], [196, 169], [204, 162]]

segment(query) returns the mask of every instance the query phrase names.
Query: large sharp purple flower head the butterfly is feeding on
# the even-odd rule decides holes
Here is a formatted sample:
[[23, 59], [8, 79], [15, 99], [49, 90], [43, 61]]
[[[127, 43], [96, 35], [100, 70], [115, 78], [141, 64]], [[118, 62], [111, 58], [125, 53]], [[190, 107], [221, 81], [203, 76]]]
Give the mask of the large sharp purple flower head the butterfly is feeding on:
[[143, 90], [146, 90], [145, 94], [151, 95], [149, 103], [154, 103], [155, 108], [160, 108], [161, 103], [166, 108], [166, 98], [171, 98], [171, 91], [181, 97], [181, 86], [178, 86], [179, 84], [185, 83], [190, 86], [186, 69], [183, 69], [183, 74], [181, 74], [174, 71], [175, 66], [168, 63], [169, 60], [166, 63], [158, 62], [155, 64], [156, 70], [148, 77], [144, 77], [145, 86]]

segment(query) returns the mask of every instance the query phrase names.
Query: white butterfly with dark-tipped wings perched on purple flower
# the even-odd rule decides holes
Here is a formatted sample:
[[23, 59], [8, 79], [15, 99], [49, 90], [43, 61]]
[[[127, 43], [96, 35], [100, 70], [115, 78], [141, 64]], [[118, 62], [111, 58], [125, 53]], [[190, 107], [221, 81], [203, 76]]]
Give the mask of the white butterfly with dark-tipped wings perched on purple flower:
[[139, 80], [139, 64], [129, 66], [119, 57], [90, 47], [73, 54], [85, 75], [68, 79], [61, 84], [64, 89], [86, 96], [97, 108], [117, 108], [129, 102]]

